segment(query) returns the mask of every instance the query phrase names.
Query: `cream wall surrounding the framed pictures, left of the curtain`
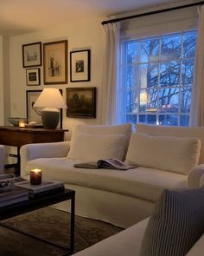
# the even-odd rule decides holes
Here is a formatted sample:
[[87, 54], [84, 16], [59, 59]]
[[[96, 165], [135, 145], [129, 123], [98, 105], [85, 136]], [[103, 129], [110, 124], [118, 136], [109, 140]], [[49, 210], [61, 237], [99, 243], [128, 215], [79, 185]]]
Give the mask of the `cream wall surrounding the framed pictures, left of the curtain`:
[[[79, 119], [67, 118], [63, 109], [63, 128], [72, 130], [77, 123], [101, 123], [101, 78], [102, 60], [104, 50], [103, 28], [100, 24], [102, 18], [84, 23], [69, 23], [52, 30], [10, 37], [10, 115], [26, 116], [26, 90], [43, 89], [43, 69], [41, 66], [41, 86], [26, 85], [26, 69], [22, 68], [22, 44], [26, 43], [47, 43], [67, 39], [68, 40], [68, 83], [61, 85], [49, 85], [52, 88], [59, 88], [63, 91], [66, 99], [66, 88], [71, 87], [97, 87], [97, 118]], [[70, 82], [69, 75], [69, 52], [78, 49], [91, 49], [91, 82]], [[67, 138], [71, 133], [68, 133]]]

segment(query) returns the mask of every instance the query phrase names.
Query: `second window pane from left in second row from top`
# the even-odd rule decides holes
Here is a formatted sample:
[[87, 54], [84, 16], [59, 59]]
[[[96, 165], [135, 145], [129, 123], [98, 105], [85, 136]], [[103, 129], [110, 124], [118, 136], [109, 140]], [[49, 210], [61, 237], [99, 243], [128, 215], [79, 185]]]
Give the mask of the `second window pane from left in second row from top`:
[[139, 67], [140, 88], [156, 87], [158, 84], [158, 64], [142, 64]]

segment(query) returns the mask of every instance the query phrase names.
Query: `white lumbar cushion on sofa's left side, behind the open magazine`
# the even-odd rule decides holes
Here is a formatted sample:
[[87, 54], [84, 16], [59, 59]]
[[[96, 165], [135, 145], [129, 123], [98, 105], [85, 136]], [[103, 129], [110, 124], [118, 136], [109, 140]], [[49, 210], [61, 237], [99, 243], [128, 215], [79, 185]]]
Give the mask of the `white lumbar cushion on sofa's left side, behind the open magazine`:
[[98, 161], [105, 158], [123, 160], [126, 145], [125, 135], [88, 135], [75, 137], [68, 159], [79, 161]]

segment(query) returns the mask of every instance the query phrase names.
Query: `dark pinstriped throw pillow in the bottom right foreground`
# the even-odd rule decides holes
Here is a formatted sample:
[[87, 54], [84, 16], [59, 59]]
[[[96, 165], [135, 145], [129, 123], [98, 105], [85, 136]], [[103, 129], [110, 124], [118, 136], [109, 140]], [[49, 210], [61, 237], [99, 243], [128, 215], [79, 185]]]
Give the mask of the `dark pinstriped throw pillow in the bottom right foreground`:
[[204, 189], [165, 190], [143, 236], [140, 256], [184, 256], [204, 232]]

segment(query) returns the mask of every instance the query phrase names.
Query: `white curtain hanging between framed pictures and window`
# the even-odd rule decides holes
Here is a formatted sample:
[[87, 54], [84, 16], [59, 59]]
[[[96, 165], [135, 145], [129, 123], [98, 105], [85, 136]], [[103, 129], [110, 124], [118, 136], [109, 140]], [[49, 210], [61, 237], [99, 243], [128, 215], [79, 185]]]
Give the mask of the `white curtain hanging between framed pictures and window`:
[[118, 123], [118, 71], [120, 23], [107, 23], [103, 66], [103, 124]]

